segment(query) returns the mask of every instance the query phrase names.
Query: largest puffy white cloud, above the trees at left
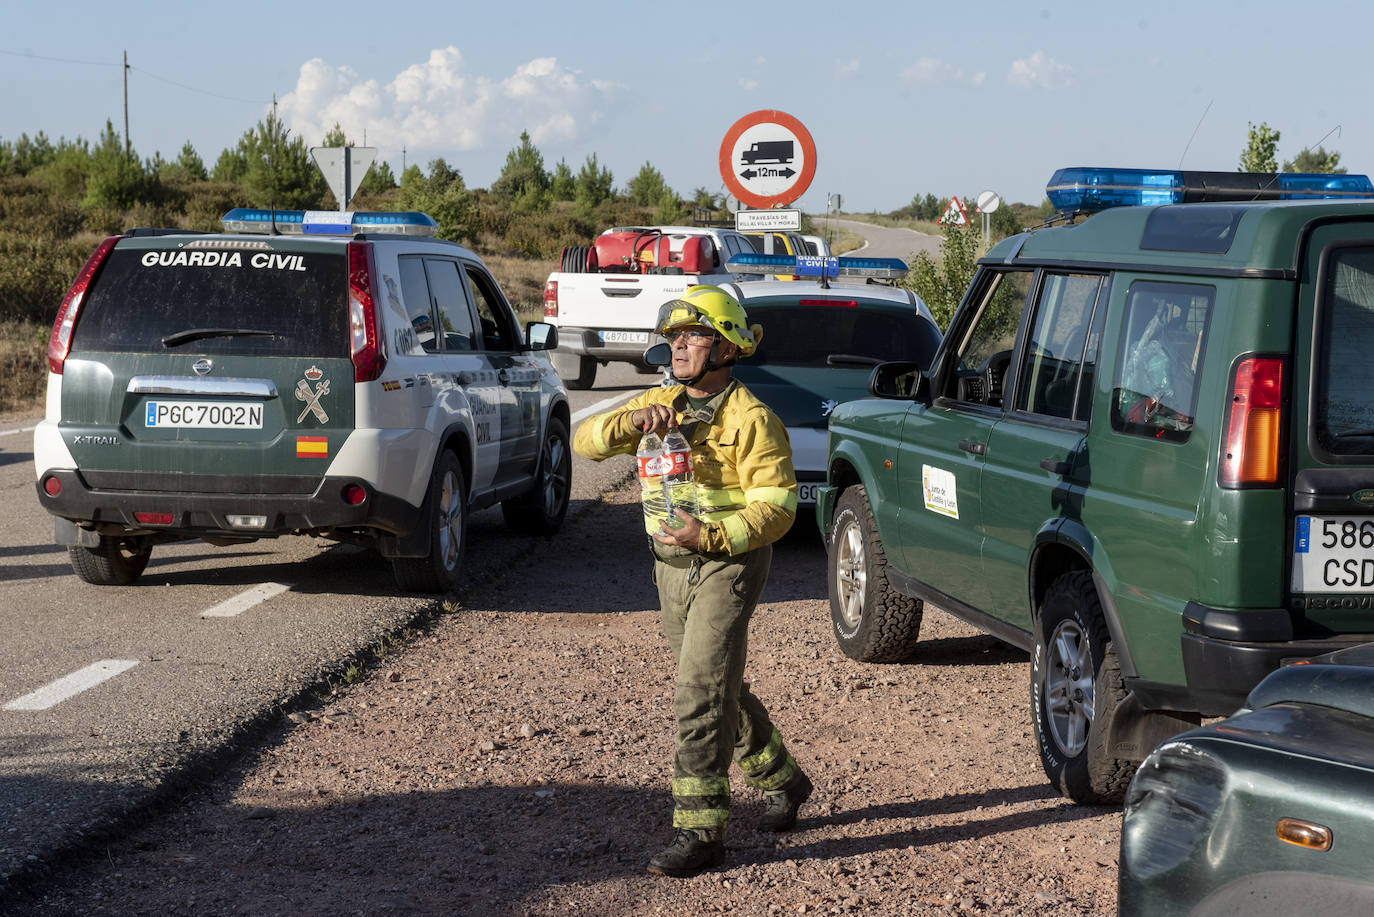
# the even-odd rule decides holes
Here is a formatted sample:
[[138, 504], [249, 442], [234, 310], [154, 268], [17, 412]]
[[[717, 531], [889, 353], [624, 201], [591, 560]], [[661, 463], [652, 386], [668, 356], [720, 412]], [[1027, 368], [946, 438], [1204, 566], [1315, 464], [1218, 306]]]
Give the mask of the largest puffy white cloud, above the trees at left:
[[536, 58], [504, 77], [464, 70], [455, 47], [430, 51], [382, 85], [320, 58], [301, 65], [282, 96], [286, 125], [306, 144], [339, 124], [349, 139], [383, 147], [467, 151], [508, 147], [529, 131], [534, 143], [577, 137], [600, 120], [616, 87], [585, 80], [556, 58]]

